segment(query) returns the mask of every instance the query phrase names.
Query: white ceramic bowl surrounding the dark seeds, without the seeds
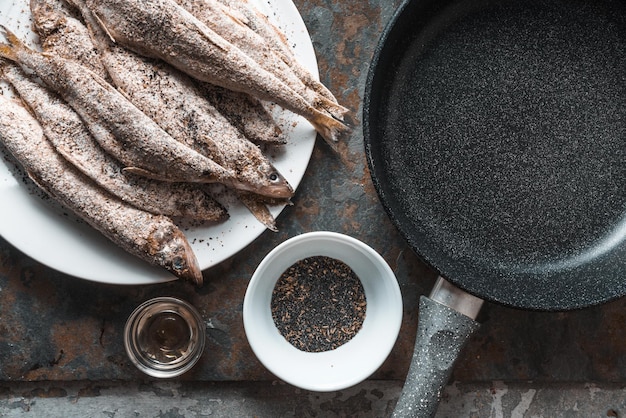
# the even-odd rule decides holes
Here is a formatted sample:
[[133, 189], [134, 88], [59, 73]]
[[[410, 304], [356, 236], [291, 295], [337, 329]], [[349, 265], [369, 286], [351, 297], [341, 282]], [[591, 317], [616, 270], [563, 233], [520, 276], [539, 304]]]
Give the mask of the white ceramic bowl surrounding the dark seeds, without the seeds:
[[[361, 280], [367, 302], [360, 331], [330, 351], [306, 352], [278, 331], [271, 313], [274, 286], [297, 261], [328, 256], [346, 263]], [[254, 272], [243, 302], [246, 336], [259, 361], [279, 379], [302, 389], [328, 392], [353, 386], [385, 361], [400, 332], [402, 296], [385, 260], [361, 241], [334, 232], [310, 232], [274, 248]]]

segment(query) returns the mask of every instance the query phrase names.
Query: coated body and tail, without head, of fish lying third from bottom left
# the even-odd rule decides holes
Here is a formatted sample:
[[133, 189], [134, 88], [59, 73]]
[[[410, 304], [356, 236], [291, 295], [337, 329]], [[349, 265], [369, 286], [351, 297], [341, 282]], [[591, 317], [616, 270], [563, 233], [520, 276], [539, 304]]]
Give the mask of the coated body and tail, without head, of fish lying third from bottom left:
[[75, 61], [39, 53], [1, 27], [9, 43], [0, 56], [32, 71], [85, 121], [98, 143], [124, 170], [165, 181], [221, 182], [233, 173], [173, 139], [109, 83]]

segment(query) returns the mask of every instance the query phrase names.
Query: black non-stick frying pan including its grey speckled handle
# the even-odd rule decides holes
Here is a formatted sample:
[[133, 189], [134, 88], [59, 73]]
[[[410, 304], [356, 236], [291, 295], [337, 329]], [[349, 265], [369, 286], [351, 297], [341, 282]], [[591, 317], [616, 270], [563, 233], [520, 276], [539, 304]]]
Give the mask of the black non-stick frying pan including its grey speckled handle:
[[363, 116], [387, 213], [445, 278], [397, 415], [434, 414], [455, 358], [440, 348], [460, 350], [483, 299], [556, 311], [626, 294], [626, 1], [405, 1]]

